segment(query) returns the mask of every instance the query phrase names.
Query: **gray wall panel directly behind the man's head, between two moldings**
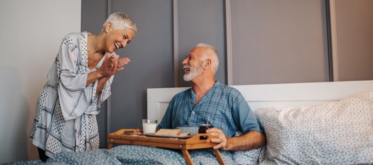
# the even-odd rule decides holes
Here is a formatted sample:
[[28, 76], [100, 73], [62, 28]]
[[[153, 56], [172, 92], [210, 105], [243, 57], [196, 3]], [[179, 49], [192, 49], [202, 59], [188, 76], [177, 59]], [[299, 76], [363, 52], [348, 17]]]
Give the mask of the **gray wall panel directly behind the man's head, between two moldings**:
[[181, 62], [198, 43], [214, 46], [219, 54], [215, 80], [226, 83], [223, 0], [179, 0], [179, 86], [191, 86], [183, 80]]

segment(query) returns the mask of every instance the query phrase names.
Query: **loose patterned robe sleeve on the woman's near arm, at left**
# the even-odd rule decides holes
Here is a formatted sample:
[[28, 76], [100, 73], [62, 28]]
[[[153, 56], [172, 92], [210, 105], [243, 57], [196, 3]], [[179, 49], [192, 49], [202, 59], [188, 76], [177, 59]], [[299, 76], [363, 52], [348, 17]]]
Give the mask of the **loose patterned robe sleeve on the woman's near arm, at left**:
[[93, 99], [94, 84], [85, 86], [87, 65], [80, 59], [79, 42], [79, 39], [67, 35], [58, 52], [58, 97], [65, 120], [83, 115]]

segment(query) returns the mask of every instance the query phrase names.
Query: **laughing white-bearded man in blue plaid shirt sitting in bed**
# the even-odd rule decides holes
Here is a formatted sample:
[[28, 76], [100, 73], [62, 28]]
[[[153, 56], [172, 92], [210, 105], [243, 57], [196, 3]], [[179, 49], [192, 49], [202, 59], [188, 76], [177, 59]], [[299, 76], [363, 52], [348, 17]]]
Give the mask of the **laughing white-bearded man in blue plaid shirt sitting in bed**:
[[[241, 93], [232, 87], [214, 81], [219, 59], [214, 47], [198, 44], [183, 61], [184, 80], [192, 88], [173, 97], [157, 129], [199, 127], [209, 123], [207, 130], [219, 137], [214, 149], [248, 150], [265, 145], [266, 139], [259, 124]], [[233, 137], [236, 132], [244, 133]]]

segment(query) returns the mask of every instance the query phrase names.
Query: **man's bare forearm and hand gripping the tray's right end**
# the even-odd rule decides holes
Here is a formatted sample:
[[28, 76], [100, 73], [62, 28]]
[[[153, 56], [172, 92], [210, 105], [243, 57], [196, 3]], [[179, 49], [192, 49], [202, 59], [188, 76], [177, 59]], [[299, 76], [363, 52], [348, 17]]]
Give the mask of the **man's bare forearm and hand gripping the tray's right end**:
[[266, 144], [264, 133], [258, 131], [249, 131], [242, 136], [226, 138], [225, 134], [217, 128], [206, 130], [206, 133], [211, 133], [217, 136], [217, 139], [211, 139], [213, 143], [219, 143], [214, 146], [214, 149], [221, 148], [223, 150], [249, 150], [262, 147]]

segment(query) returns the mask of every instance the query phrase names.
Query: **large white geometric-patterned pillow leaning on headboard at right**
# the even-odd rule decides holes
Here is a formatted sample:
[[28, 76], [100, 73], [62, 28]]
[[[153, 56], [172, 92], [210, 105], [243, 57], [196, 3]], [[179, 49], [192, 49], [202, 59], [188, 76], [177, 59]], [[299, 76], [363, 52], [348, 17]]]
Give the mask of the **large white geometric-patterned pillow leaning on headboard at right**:
[[264, 164], [373, 162], [373, 91], [312, 107], [256, 113], [267, 137]]

